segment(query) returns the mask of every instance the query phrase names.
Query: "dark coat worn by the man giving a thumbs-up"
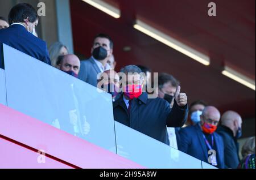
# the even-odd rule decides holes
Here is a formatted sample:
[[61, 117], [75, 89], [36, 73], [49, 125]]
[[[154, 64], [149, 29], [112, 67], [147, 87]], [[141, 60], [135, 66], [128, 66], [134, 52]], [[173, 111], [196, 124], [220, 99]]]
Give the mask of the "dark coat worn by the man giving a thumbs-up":
[[113, 109], [115, 121], [168, 145], [166, 126], [181, 127], [188, 117], [188, 105], [179, 107], [175, 101], [171, 109], [166, 100], [158, 97], [148, 98], [146, 92], [131, 101], [130, 115], [123, 95], [113, 102]]

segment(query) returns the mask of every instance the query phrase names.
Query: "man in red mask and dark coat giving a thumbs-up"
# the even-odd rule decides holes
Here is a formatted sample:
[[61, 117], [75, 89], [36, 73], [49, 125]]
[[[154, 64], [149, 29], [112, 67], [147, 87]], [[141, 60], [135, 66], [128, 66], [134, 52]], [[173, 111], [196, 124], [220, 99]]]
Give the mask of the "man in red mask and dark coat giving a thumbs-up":
[[147, 92], [142, 92], [145, 80], [141, 68], [129, 65], [121, 72], [125, 77], [120, 80], [122, 94], [113, 102], [115, 121], [169, 145], [166, 126], [181, 127], [187, 121], [187, 95], [178, 87], [171, 108], [162, 98], [148, 98]]

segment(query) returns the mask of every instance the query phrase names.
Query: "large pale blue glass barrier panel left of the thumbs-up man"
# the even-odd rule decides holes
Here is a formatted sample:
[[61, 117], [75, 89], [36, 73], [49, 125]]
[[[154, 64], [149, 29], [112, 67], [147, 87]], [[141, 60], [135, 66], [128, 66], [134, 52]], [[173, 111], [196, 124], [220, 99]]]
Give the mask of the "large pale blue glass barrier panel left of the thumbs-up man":
[[111, 95], [5, 44], [3, 52], [10, 108], [116, 153]]

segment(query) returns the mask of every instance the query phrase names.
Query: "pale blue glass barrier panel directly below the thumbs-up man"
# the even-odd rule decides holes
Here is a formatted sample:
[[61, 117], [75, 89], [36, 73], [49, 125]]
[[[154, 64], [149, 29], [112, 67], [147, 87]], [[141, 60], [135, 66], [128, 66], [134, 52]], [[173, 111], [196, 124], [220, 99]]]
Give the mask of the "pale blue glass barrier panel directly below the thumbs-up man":
[[115, 121], [117, 154], [146, 168], [201, 169], [201, 161]]

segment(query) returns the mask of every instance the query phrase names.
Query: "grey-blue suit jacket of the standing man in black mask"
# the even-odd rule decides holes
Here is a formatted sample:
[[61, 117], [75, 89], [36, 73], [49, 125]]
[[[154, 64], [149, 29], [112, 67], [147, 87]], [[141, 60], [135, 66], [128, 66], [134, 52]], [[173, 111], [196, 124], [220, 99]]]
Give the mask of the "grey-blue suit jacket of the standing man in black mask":
[[97, 87], [97, 75], [100, 72], [100, 68], [98, 68], [97, 64], [91, 57], [89, 59], [81, 61], [79, 79]]

